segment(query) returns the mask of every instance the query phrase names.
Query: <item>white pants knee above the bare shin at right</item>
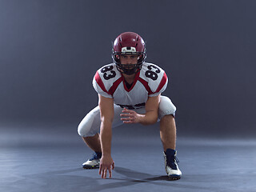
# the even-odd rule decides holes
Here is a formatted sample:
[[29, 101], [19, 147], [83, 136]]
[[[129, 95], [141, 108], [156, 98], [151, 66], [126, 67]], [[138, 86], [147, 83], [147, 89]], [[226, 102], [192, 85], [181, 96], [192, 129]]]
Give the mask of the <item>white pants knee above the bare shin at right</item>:
[[172, 114], [175, 117], [176, 106], [171, 102], [170, 98], [166, 96], [160, 96], [158, 118], [161, 119], [163, 116]]

